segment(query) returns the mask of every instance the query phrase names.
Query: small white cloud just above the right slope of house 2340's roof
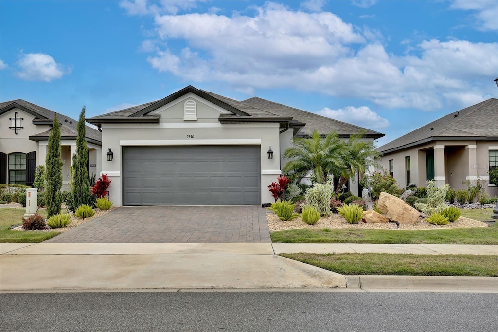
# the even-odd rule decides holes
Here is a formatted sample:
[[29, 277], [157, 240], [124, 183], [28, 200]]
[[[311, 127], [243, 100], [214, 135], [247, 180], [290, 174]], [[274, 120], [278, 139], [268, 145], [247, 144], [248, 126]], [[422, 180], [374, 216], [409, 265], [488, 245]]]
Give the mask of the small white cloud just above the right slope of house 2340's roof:
[[351, 123], [369, 129], [385, 129], [389, 126], [387, 119], [381, 118], [367, 106], [353, 107], [347, 106], [338, 110], [331, 110], [328, 107], [316, 112], [335, 120]]

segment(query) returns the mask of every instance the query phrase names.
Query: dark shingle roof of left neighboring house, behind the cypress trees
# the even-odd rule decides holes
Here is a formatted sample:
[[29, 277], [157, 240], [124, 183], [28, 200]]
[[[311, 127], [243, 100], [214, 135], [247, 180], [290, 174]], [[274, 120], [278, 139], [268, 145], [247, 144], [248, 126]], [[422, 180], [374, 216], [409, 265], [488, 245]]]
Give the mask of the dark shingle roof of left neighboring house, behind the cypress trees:
[[[35, 114], [36, 119], [40, 120], [54, 120], [55, 115], [57, 114], [57, 119], [59, 122], [62, 123], [61, 125], [61, 135], [64, 136], [76, 136], [76, 133], [78, 131], [78, 121], [71, 119], [63, 114], [56, 113], [54, 111], [51, 111], [49, 109], [46, 109], [44, 107], [38, 106], [36, 104], [27, 102], [22, 99], [16, 99], [16, 100], [11, 100], [11, 101], [6, 101], [0, 103], [0, 109], [3, 110], [3, 108], [8, 107], [12, 104], [17, 104], [19, 106], [22, 106], [28, 110], [30, 110], [32, 113]], [[48, 137], [50, 131], [46, 131], [43, 133], [39, 133], [37, 135], [33, 135], [35, 137]], [[102, 142], [102, 133], [99, 132], [98, 130], [86, 126], [86, 138], [93, 140], [95, 142]]]

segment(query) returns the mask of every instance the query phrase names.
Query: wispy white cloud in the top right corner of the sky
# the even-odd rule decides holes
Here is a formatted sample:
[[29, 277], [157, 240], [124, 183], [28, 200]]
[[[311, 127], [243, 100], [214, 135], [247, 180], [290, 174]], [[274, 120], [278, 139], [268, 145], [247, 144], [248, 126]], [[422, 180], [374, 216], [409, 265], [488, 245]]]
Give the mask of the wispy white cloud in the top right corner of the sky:
[[469, 18], [478, 30], [496, 31], [498, 29], [498, 2], [497, 1], [455, 1], [451, 9], [472, 10]]

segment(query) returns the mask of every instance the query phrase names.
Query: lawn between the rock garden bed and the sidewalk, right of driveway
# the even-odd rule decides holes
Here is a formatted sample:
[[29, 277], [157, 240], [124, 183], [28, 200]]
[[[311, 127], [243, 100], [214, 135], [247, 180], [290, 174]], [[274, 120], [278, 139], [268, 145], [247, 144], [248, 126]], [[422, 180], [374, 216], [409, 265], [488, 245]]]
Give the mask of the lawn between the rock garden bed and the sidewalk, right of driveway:
[[[492, 209], [462, 210], [462, 215], [485, 220]], [[378, 244], [498, 244], [498, 223], [486, 228], [420, 231], [387, 229], [289, 229], [271, 233], [273, 243], [378, 243]]]

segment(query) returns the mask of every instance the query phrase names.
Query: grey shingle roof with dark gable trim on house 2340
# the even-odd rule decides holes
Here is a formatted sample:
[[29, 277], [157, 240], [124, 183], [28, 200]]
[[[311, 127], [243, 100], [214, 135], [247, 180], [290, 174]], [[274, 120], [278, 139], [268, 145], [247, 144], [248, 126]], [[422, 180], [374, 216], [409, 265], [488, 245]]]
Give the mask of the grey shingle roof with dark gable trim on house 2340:
[[261, 98], [250, 98], [244, 101], [220, 96], [213, 92], [199, 90], [189, 85], [182, 90], [179, 90], [166, 98], [156, 100], [150, 103], [141, 104], [138, 106], [129, 107], [123, 110], [115, 111], [99, 115], [90, 119], [88, 122], [97, 126], [103, 123], [159, 123], [160, 118], [156, 114], [150, 114], [155, 109], [166, 105], [167, 103], [192, 92], [224, 109], [232, 112], [232, 114], [221, 114], [220, 122], [280, 122], [281, 125], [286, 123], [297, 131], [304, 127], [299, 135], [310, 135], [314, 129], [317, 129], [320, 134], [326, 135], [331, 130], [336, 131], [341, 137], [349, 137], [351, 134], [356, 134], [364, 131], [366, 137], [377, 139], [383, 137], [384, 134], [351, 125], [345, 122], [337, 121], [331, 118], [323, 117], [315, 113], [306, 112], [297, 108], [274, 103]]

